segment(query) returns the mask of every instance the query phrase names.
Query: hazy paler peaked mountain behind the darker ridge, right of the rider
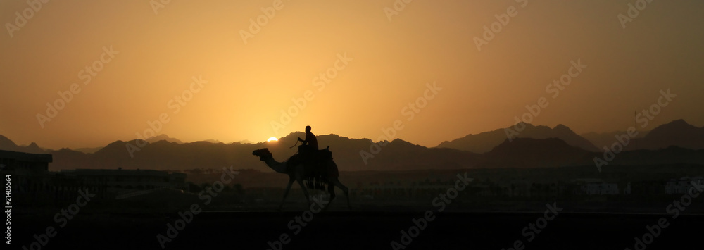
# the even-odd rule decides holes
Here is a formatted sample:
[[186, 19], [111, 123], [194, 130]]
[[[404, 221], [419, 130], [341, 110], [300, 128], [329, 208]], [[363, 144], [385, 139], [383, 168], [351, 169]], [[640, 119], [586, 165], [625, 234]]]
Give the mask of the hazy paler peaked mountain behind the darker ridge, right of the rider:
[[[558, 138], [567, 142], [570, 146], [577, 146], [586, 151], [599, 151], [594, 144], [589, 142], [589, 140], [577, 135], [565, 125], [560, 124], [553, 128], [543, 125], [534, 126], [529, 123], [522, 123], [522, 125], [525, 125], [525, 129], [519, 132], [519, 135], [517, 135], [518, 138]], [[513, 129], [513, 126], [509, 128]], [[459, 149], [481, 154], [491, 151], [491, 149], [494, 149], [494, 147], [498, 146], [506, 139], [508, 139], [508, 137], [506, 136], [505, 129], [502, 128], [489, 132], [482, 132], [477, 135], [470, 134], [449, 142], [442, 142], [436, 147]]]

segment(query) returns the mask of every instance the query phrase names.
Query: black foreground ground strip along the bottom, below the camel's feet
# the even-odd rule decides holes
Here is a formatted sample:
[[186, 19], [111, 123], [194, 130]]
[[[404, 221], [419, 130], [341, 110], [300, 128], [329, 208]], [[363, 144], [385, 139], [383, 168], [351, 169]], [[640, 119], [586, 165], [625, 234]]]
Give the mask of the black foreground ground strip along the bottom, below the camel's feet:
[[[314, 215], [305, 226], [295, 222], [303, 211], [209, 211], [195, 215], [191, 223], [175, 235], [165, 249], [279, 249], [280, 235], [289, 235], [281, 249], [393, 249], [402, 246], [401, 230], [408, 232], [417, 212], [327, 211]], [[425, 230], [408, 246], [398, 249], [509, 249], [520, 240], [524, 249], [701, 249], [704, 215], [680, 215], [673, 219], [662, 214], [559, 213], [534, 239], [523, 234], [529, 223], [543, 213], [435, 213]], [[60, 227], [51, 214], [18, 214], [13, 217], [12, 245], [0, 249], [162, 249], [157, 235], [167, 235], [167, 223], [177, 214], [80, 213]], [[668, 227], [652, 242], [648, 229], [660, 218]], [[294, 220], [293, 227], [289, 222]], [[46, 245], [33, 235], [46, 227], [56, 227], [56, 235]], [[296, 233], [296, 229], [300, 229]], [[655, 230], [657, 232], [658, 230]], [[529, 232], [529, 231], [526, 231]], [[414, 231], [415, 233], [415, 231]], [[646, 235], [646, 242], [634, 248], [634, 237]], [[46, 238], [44, 238], [46, 239]], [[406, 239], [408, 243], [408, 239]], [[277, 246], [277, 244], [274, 244]], [[519, 248], [520, 249], [520, 248]]]

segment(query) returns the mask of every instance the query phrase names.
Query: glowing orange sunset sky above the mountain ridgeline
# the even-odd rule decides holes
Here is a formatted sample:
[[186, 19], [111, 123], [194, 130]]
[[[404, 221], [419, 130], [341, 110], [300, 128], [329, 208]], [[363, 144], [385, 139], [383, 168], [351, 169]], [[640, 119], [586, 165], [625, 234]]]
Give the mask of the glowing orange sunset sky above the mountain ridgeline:
[[[400, 120], [396, 137], [436, 146], [513, 125], [541, 97], [549, 104], [536, 125], [625, 130], [660, 89], [677, 97], [646, 129], [680, 118], [703, 126], [704, 2], [653, 1], [624, 28], [618, 15], [635, 2], [416, 0], [389, 20], [390, 0], [174, 0], [156, 13], [146, 0], [49, 1], [38, 11], [0, 1], [0, 135], [103, 146], [162, 116], [158, 134], [184, 142], [262, 142], [306, 125], [376, 140]], [[474, 37], [495, 15], [508, 23], [479, 51]], [[250, 30], [258, 18], [265, 24]], [[546, 87], [571, 61], [587, 66], [553, 98]], [[322, 87], [320, 74], [334, 77]], [[426, 93], [432, 82], [441, 90]], [[49, 118], [46, 103], [72, 86], [42, 127], [37, 115]], [[305, 107], [291, 108], [306, 94]], [[425, 106], [404, 109], [416, 101]], [[289, 108], [298, 113], [284, 124]]]

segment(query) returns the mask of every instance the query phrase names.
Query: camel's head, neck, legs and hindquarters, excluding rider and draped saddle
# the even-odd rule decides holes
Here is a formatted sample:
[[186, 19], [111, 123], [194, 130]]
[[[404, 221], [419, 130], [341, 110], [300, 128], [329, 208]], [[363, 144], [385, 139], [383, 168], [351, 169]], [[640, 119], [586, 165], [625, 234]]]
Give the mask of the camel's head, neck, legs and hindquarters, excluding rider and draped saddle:
[[[329, 152], [329, 146], [328, 149], [323, 149], [327, 150]], [[268, 165], [269, 168], [272, 170], [276, 171], [276, 173], [282, 173], [282, 174], [287, 174], [289, 175], [289, 185], [286, 186], [286, 191], [284, 192], [284, 198], [281, 200], [281, 205], [279, 206], [279, 211], [282, 210], [284, 207], [284, 201], [286, 201], [286, 196], [289, 195], [289, 190], [291, 190], [291, 185], [294, 184], [294, 181], [298, 182], [298, 185], [301, 185], [301, 189], [303, 190], [303, 195], [306, 196], [306, 201], [308, 201], [308, 204], [310, 204], [310, 197], [308, 196], [308, 189], [306, 189], [306, 185], [303, 185], [303, 180], [309, 180], [310, 178], [314, 177], [310, 173], [307, 173], [306, 171], [306, 165], [304, 164], [298, 164], [294, 167], [287, 168], [287, 163], [289, 160], [284, 161], [284, 162], [278, 162], [274, 159], [272, 156], [271, 152], [269, 151], [268, 148], [263, 148], [263, 149], [257, 149], [252, 152], [253, 155], [259, 156], [259, 161], [263, 161]], [[323, 210], [326, 210], [330, 204], [332, 204], [332, 200], [335, 199], [335, 190], [334, 186], [337, 186], [339, 189], [342, 189], [342, 192], [345, 193], [345, 196], [347, 198], [347, 206], [350, 210], [352, 210], [352, 206], [350, 206], [350, 197], [349, 197], [349, 189], [345, 187], [345, 185], [342, 185], [340, 180], [338, 179], [337, 173], [337, 164], [330, 158], [325, 165], [327, 166], [327, 169], [332, 170], [335, 174], [334, 175], [329, 175], [327, 177], [327, 191], [330, 194], [330, 201], [329, 203], [323, 208]], [[312, 166], [309, 166], [312, 167]], [[310, 187], [310, 186], [309, 186]]]

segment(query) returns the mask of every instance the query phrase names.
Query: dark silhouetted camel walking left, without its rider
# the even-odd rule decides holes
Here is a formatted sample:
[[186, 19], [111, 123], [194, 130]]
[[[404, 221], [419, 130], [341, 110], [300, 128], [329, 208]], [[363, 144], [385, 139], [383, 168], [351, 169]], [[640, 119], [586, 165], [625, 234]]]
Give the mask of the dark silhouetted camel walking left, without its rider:
[[[327, 147], [327, 149], [322, 149], [320, 151], [326, 151], [327, 153], [332, 154], [329, 152], [329, 146]], [[313, 180], [319, 180], [319, 182], [322, 183], [318, 183], [318, 185], [322, 184], [322, 190], [325, 190], [324, 185], [327, 184], [327, 191], [330, 194], [330, 201], [327, 205], [325, 205], [325, 208], [323, 208], [323, 210], [326, 210], [330, 206], [330, 204], [332, 204], [332, 200], [335, 199], [335, 186], [337, 186], [339, 189], [342, 189], [342, 192], [345, 193], [345, 196], [347, 198], [347, 207], [352, 210], [352, 206], [350, 205], [349, 189], [345, 187], [345, 185], [342, 185], [342, 183], [338, 179], [339, 171], [337, 170], [337, 164], [335, 164], [335, 162], [332, 160], [332, 157], [322, 162], [321, 165], [315, 165], [314, 163], [301, 163], [289, 166], [288, 162], [291, 161], [291, 158], [293, 158], [293, 156], [291, 156], [291, 158], [289, 158], [287, 161], [278, 162], [274, 159], [274, 156], [272, 156], [268, 148], [257, 149], [253, 151], [252, 154], [255, 156], [259, 156], [259, 161], [263, 161], [264, 163], [266, 163], [266, 165], [268, 165], [268, 167], [272, 170], [276, 171], [276, 173], [289, 175], [289, 185], [286, 186], [284, 198], [281, 200], [279, 210], [284, 207], [284, 201], [286, 201], [286, 196], [289, 195], [289, 190], [291, 190], [291, 185], [294, 184], [294, 181], [298, 182], [298, 185], [301, 185], [301, 189], [303, 189], [303, 195], [306, 196], [306, 200], [308, 201], [308, 204], [310, 204], [308, 189], [306, 189], [306, 185], [303, 185], [303, 180], [308, 181], [308, 187], [314, 186]], [[320, 173], [322, 173], [322, 180], [320, 180]]]

